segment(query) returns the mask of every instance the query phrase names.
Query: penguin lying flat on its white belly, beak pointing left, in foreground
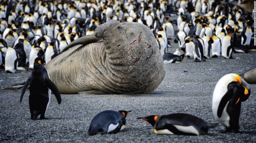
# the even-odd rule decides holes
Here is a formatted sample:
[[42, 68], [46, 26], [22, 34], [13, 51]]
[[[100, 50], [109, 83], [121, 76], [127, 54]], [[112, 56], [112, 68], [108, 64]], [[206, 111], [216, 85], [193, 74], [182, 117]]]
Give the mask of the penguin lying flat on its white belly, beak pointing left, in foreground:
[[203, 119], [185, 113], [174, 113], [169, 115], [151, 115], [139, 117], [148, 121], [156, 134], [170, 135], [205, 135], [209, 128], [214, 128], [217, 124], [205, 122]]

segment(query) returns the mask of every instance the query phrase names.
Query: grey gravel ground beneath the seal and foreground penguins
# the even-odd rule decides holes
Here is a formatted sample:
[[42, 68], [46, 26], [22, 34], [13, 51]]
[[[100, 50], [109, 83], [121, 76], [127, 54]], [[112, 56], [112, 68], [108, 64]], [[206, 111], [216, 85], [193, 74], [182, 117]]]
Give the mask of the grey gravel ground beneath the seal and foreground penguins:
[[[170, 48], [169, 52], [175, 51]], [[137, 117], [182, 112], [216, 123], [212, 109], [212, 93], [217, 81], [226, 74], [242, 74], [256, 68], [256, 52], [233, 54], [237, 59], [213, 58], [194, 62], [184, 58], [180, 64], [167, 64], [162, 84], [151, 94], [93, 95], [61, 94], [61, 104], [54, 95], [46, 112], [48, 120], [30, 120], [29, 90], [20, 104], [21, 89], [13, 84], [26, 81], [30, 71], [7, 74], [0, 70], [0, 142], [256, 142], [256, 84], [242, 103], [241, 133], [223, 133], [219, 124], [203, 136], [156, 135], [152, 126]], [[104, 110], [132, 110], [127, 127], [117, 134], [89, 136], [91, 120]]]

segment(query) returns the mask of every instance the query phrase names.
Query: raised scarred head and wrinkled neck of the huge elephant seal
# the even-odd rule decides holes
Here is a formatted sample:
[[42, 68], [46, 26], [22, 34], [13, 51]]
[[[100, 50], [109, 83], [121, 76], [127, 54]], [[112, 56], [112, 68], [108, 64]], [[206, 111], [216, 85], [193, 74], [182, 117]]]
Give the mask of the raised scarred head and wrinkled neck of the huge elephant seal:
[[[122, 83], [121, 87], [132, 87], [134, 93], [136, 90], [140, 93], [141, 87], [155, 82], [150, 81], [153, 80], [152, 76], [164, 77], [164, 73], [157, 75], [158, 72], [152, 71], [159, 70], [155, 69], [157, 67], [162, 68], [162, 56], [154, 34], [147, 26], [110, 20], [100, 25], [94, 31], [94, 36], [103, 38], [106, 68], [114, 81]], [[143, 80], [145, 77], [149, 79], [147, 83]], [[152, 89], [145, 93], [150, 92]]]

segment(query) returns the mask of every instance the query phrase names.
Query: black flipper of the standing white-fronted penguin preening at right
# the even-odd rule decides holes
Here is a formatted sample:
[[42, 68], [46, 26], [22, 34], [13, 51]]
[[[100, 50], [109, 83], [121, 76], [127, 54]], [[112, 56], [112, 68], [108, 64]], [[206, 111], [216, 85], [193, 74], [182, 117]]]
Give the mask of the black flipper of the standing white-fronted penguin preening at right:
[[218, 107], [218, 111], [217, 111], [217, 116], [219, 118], [222, 117], [222, 112], [225, 108], [225, 106], [227, 105], [227, 103], [229, 102], [229, 100], [232, 98], [233, 94], [234, 94], [234, 90], [236, 88], [236, 83], [231, 82], [228, 86], [228, 91], [227, 93], [222, 97], [219, 107]]

